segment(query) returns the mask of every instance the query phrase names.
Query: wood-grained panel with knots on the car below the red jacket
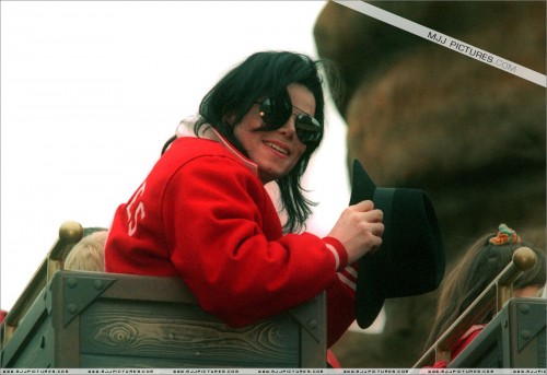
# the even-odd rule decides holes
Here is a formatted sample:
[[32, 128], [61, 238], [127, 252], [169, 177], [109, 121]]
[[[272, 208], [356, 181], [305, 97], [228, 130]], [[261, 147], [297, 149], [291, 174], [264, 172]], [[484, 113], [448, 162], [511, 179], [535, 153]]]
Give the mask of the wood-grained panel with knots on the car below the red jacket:
[[82, 354], [115, 352], [210, 366], [300, 365], [301, 328], [289, 316], [234, 329], [196, 305], [98, 300], [80, 319]]

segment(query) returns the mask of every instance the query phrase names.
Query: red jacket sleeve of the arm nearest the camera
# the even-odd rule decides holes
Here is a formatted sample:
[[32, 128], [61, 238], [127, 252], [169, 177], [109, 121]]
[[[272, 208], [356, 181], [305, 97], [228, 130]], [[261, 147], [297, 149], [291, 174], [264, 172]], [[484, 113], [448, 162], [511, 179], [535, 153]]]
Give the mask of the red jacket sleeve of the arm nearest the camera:
[[323, 239], [283, 236], [267, 191], [233, 160], [187, 163], [168, 183], [162, 209], [173, 263], [201, 307], [232, 326], [279, 314], [338, 283]]

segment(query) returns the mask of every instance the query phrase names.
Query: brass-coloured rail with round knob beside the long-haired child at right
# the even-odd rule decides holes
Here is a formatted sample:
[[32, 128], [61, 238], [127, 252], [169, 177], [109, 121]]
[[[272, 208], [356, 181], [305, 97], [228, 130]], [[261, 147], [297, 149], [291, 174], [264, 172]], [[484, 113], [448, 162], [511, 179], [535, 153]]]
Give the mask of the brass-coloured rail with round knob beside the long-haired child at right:
[[434, 362], [452, 362], [451, 348], [469, 329], [488, 313], [497, 314], [513, 296], [513, 282], [524, 271], [536, 263], [536, 254], [528, 247], [521, 247], [513, 254], [512, 261], [480, 293], [431, 348], [416, 362], [412, 368], [432, 365]]

